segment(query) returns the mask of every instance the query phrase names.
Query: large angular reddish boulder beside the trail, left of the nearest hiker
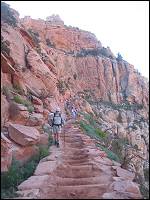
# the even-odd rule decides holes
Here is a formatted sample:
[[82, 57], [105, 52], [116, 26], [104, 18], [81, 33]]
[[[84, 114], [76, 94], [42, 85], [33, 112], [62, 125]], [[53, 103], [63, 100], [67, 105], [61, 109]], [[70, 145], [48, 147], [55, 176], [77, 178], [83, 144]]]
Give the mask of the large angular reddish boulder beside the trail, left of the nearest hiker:
[[34, 127], [10, 124], [8, 132], [9, 137], [22, 146], [37, 144], [40, 139], [40, 134]]

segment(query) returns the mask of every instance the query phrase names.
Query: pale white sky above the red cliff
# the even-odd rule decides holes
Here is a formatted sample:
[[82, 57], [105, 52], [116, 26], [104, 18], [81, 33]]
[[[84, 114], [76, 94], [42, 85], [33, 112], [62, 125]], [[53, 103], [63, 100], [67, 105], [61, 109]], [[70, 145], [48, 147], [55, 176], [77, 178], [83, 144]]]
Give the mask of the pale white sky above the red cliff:
[[58, 14], [66, 25], [94, 33], [104, 47], [149, 79], [149, 1], [5, 1], [20, 17]]

